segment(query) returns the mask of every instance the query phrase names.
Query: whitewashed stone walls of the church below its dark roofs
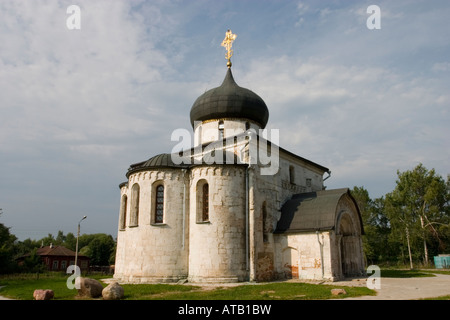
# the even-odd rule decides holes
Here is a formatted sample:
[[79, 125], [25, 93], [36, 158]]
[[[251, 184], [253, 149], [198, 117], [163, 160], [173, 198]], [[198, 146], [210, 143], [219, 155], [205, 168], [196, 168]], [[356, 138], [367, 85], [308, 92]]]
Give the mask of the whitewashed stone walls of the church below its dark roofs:
[[[239, 150], [244, 145], [241, 141]], [[261, 175], [259, 165], [237, 164], [131, 174], [121, 185], [114, 277], [133, 283], [334, 279], [340, 238], [333, 232], [273, 234], [285, 201], [323, 189], [320, 167], [282, 150], [279, 160], [274, 175]], [[208, 219], [202, 220], [205, 200], [199, 194], [205, 183]], [[163, 223], [155, 223], [159, 185], [164, 186]]]

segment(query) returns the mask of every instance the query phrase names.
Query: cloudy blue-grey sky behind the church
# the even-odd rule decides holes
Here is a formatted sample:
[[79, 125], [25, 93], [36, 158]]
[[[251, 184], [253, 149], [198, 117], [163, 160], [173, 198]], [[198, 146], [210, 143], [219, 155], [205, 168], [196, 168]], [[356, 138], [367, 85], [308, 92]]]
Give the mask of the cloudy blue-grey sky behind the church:
[[448, 17], [448, 0], [2, 0], [0, 223], [37, 240], [86, 215], [82, 234], [116, 238], [128, 167], [192, 129], [195, 99], [225, 77], [228, 29], [234, 79], [281, 147], [331, 170], [327, 189], [375, 199], [419, 163], [446, 178]]

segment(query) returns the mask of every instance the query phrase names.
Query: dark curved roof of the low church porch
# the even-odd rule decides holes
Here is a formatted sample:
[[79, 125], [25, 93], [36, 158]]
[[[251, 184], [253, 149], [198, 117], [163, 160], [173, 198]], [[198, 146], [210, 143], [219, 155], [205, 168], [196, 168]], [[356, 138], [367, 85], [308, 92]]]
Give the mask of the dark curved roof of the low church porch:
[[[336, 212], [337, 205], [340, 199], [346, 194], [351, 197], [348, 188], [293, 195], [282, 206], [281, 218], [278, 221], [274, 233], [297, 233], [335, 229], [336, 215], [338, 214]], [[361, 217], [359, 213], [358, 215]], [[364, 231], [361, 230], [361, 232], [363, 233]]]

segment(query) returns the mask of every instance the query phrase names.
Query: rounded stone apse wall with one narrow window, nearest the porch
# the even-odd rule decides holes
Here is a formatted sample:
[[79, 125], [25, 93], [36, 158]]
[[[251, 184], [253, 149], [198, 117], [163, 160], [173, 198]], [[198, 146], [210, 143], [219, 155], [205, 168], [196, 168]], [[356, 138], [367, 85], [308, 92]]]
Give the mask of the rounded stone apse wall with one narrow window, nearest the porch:
[[[209, 220], [198, 221], [198, 182], [209, 184]], [[191, 169], [189, 281], [244, 281], [245, 167], [199, 166]]]

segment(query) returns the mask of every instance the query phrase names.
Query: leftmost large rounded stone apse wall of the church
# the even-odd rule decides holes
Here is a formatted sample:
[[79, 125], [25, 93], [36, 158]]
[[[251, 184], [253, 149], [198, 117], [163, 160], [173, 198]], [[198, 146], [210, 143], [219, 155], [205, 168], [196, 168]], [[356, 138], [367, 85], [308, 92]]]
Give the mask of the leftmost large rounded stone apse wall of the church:
[[[183, 172], [175, 169], [139, 172], [129, 177], [128, 186], [135, 184], [140, 190], [137, 223], [133, 222], [132, 201], [128, 200], [126, 226], [119, 225], [114, 277], [134, 283], [186, 278], [188, 213], [186, 210], [183, 213], [183, 201], [189, 203], [189, 194], [187, 190], [183, 193]], [[164, 220], [154, 223], [155, 187], [159, 184], [164, 185]], [[130, 199], [128, 186], [122, 186], [121, 199], [123, 195]]]

